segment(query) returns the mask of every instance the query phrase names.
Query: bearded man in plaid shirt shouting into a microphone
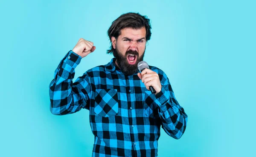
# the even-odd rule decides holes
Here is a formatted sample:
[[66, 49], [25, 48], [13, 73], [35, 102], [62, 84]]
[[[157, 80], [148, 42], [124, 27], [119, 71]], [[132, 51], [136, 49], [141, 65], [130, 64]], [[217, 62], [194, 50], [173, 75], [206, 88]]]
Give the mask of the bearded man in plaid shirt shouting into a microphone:
[[137, 69], [151, 37], [149, 19], [136, 13], [122, 14], [113, 21], [108, 36], [111, 48], [107, 53], [114, 58], [87, 70], [74, 83], [74, 69], [96, 47], [81, 38], [61, 60], [49, 86], [50, 111], [54, 115], [81, 108], [90, 111], [93, 157], [155, 157], [160, 126], [179, 139], [187, 115], [162, 70], [149, 66], [140, 73]]

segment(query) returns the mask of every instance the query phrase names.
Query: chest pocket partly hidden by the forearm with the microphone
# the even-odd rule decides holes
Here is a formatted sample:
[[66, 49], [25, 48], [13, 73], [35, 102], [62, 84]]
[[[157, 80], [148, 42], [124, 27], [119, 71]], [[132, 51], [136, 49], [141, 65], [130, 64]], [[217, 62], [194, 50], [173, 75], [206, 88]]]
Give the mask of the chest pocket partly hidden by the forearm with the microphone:
[[146, 90], [144, 99], [145, 115], [151, 118], [159, 117], [157, 104], [154, 103], [155, 95], [150, 90]]

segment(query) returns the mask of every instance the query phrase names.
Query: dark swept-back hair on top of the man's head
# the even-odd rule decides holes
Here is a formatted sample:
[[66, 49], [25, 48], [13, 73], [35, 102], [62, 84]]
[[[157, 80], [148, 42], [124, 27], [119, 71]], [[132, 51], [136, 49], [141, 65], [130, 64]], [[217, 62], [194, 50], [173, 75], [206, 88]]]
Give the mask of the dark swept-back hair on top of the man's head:
[[108, 37], [110, 39], [111, 47], [109, 50], [107, 50], [107, 53], [115, 51], [112, 45], [111, 36], [114, 36], [117, 39], [123, 28], [139, 29], [143, 27], [146, 28], [146, 41], [148, 41], [151, 37], [151, 25], [148, 17], [132, 12], [122, 14], [120, 17], [114, 20], [110, 28], [108, 28]]

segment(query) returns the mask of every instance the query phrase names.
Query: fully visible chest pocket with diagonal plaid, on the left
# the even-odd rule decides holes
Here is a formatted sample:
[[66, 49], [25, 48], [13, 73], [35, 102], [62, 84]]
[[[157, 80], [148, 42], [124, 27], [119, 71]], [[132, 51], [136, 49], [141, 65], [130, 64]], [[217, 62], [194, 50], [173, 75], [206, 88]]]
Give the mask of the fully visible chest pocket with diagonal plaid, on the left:
[[102, 117], [118, 114], [118, 95], [115, 89], [96, 89], [94, 112]]

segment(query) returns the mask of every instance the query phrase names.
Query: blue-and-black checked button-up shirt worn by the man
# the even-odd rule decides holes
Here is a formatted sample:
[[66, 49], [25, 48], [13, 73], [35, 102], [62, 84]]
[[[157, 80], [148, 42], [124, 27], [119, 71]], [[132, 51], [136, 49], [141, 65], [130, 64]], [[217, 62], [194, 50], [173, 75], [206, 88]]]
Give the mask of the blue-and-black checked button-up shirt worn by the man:
[[166, 74], [157, 67], [162, 89], [154, 95], [137, 76], [125, 75], [115, 65], [115, 58], [106, 65], [87, 70], [72, 79], [81, 56], [69, 51], [55, 70], [49, 85], [50, 111], [66, 115], [89, 109], [94, 138], [93, 157], [155, 157], [160, 127], [179, 139], [187, 123]]

